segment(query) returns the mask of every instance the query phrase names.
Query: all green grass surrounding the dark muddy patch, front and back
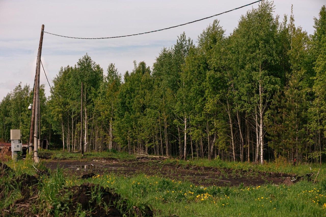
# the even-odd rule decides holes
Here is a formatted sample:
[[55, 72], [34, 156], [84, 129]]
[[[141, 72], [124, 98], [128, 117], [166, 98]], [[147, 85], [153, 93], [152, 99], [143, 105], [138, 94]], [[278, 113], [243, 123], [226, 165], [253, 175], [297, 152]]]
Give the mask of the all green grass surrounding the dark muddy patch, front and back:
[[[53, 159], [67, 159], [70, 156], [73, 159], [82, 159], [76, 153], [46, 152], [51, 153]], [[86, 157], [134, 158], [134, 156], [126, 156], [125, 153], [97, 152], [91, 154]], [[9, 161], [8, 166], [14, 169], [16, 176], [23, 173], [35, 173], [31, 160], [15, 162], [15, 166], [13, 163], [13, 161]], [[181, 166], [252, 169], [253, 171], [287, 174], [310, 173], [310, 167], [316, 174], [319, 169], [317, 165], [296, 167], [280, 163], [253, 165], [219, 160], [209, 161], [206, 159], [193, 161], [168, 159], [162, 163], [173, 163]], [[42, 169], [43, 165], [39, 164], [38, 168]], [[79, 177], [69, 174], [64, 177], [63, 171], [59, 169], [53, 171], [50, 177], [41, 177], [43, 181], [39, 186], [39, 201], [33, 209], [34, 213], [48, 212], [55, 216], [67, 213], [67, 210], [71, 208], [68, 206], [67, 197], [60, 193], [61, 190], [91, 182], [112, 188], [114, 192], [123, 198], [127, 198], [129, 210], [133, 206], [141, 208], [148, 204], [152, 207], [154, 216], [282, 216], [289, 214], [292, 216], [324, 216], [326, 214], [326, 178], [324, 170], [325, 165], [322, 165], [317, 179], [318, 182], [315, 184], [303, 180], [291, 186], [265, 184], [250, 187], [243, 185], [236, 187], [204, 187], [194, 185], [188, 181], [171, 180], [161, 176], [147, 176], [144, 174], [121, 176], [114, 173], [104, 173], [88, 180], [81, 180]], [[6, 186], [6, 183], [8, 183], [8, 180], [0, 178], [1, 186]], [[6, 208], [19, 198], [21, 198], [19, 191], [9, 192], [6, 190], [6, 195], [0, 199], [0, 209]], [[89, 211], [77, 210], [76, 213], [76, 215], [86, 215]]]

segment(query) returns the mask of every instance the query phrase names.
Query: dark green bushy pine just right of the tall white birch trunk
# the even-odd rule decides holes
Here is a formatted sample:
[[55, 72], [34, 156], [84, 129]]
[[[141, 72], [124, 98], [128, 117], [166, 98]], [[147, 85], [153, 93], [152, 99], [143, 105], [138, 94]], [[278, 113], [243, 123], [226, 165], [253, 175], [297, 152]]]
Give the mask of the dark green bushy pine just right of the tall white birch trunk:
[[286, 90], [275, 94], [265, 119], [270, 146], [283, 155], [298, 149], [304, 153], [308, 103], [297, 88], [297, 81], [291, 80]]

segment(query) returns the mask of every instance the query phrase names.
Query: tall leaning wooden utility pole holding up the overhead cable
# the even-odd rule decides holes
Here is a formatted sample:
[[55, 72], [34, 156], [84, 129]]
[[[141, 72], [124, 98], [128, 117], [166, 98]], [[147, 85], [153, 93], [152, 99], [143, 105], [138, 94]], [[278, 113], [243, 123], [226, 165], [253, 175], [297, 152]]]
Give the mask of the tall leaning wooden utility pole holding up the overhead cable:
[[44, 31], [44, 25], [42, 25], [41, 28], [41, 37], [40, 37], [40, 43], [38, 46], [38, 53], [37, 53], [37, 67], [36, 67], [36, 89], [34, 90], [36, 92], [36, 99], [35, 99], [35, 122], [34, 122], [34, 154], [33, 158], [35, 163], [39, 163], [38, 160], [38, 154], [37, 154], [37, 133], [38, 133], [38, 119], [39, 119], [39, 89], [40, 89], [40, 66], [41, 66], [41, 53], [42, 53], [42, 43], [43, 43], [43, 32]]

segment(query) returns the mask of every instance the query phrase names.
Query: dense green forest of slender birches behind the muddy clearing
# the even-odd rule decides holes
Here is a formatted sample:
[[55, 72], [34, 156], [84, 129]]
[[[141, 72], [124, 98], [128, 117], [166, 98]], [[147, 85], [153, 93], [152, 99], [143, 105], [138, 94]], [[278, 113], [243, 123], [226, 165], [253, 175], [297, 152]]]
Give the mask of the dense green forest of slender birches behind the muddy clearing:
[[[65, 151], [118, 151], [263, 163], [320, 163], [326, 154], [326, 8], [308, 35], [263, 1], [230, 35], [215, 20], [197, 43], [181, 34], [152, 67], [123, 79], [86, 54], [40, 94], [40, 135]], [[83, 82], [83, 93], [81, 83]], [[29, 137], [33, 90], [19, 84], [0, 103], [0, 138]], [[83, 123], [81, 125], [81, 97]], [[81, 135], [81, 127], [83, 135]]]

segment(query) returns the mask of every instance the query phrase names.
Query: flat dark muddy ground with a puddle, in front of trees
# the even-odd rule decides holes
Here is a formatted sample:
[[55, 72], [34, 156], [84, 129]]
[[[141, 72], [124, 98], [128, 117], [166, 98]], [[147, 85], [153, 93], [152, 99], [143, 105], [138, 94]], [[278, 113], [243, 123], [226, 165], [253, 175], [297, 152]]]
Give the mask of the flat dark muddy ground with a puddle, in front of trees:
[[56, 169], [57, 165], [69, 174], [82, 176], [93, 172], [103, 174], [113, 172], [119, 175], [133, 176], [135, 174], [159, 175], [172, 180], [187, 180], [197, 185], [238, 186], [261, 185], [264, 183], [282, 183], [293, 174], [253, 172], [244, 170], [218, 169], [214, 167], [180, 166], [164, 164], [164, 160], [118, 160], [114, 158], [79, 160], [52, 160], [46, 166]]

